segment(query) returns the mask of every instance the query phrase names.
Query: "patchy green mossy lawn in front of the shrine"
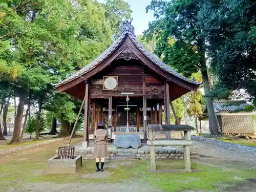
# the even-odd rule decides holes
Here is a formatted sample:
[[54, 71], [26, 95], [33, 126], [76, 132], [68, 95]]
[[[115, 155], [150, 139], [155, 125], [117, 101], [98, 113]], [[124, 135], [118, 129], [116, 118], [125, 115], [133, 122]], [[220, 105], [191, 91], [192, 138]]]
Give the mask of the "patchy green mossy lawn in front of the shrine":
[[[82, 138], [74, 138], [72, 143], [81, 141]], [[90, 178], [84, 176], [95, 173], [93, 160], [84, 160], [83, 167], [75, 175], [45, 175], [47, 160], [56, 154], [59, 146], [65, 143], [54, 143], [36, 148], [29, 152], [17, 153], [0, 158], [0, 188], [6, 189], [13, 186], [22, 186], [28, 183], [122, 183], [123, 180], [131, 182], [147, 183], [163, 191], [183, 191], [185, 189], [215, 190], [218, 186], [227, 183], [243, 183], [245, 179], [255, 177], [256, 169], [247, 169], [242, 165], [233, 165], [232, 162], [217, 165], [193, 163], [194, 173], [150, 173], [150, 162], [147, 160], [131, 160], [126, 165], [121, 161], [106, 163], [115, 165], [105, 168], [111, 172], [105, 178]], [[213, 162], [215, 162], [214, 160]], [[123, 162], [123, 161], [122, 161]], [[207, 162], [208, 163], [208, 162]], [[221, 166], [218, 166], [221, 165]], [[157, 160], [157, 169], [173, 172], [175, 168], [183, 168], [183, 160]], [[104, 172], [103, 172], [104, 173]], [[237, 178], [237, 179], [236, 179]], [[49, 184], [49, 183], [48, 183]]]

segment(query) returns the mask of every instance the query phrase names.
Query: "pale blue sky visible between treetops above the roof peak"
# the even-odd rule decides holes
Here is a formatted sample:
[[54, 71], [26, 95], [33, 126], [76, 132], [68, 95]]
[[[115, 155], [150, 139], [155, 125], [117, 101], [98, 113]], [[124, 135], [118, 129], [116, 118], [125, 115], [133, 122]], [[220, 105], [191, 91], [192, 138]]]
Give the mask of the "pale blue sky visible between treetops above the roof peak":
[[[153, 11], [146, 13], [146, 6], [150, 5], [151, 0], [124, 0], [129, 3], [133, 11], [132, 17], [134, 26], [134, 32], [136, 35], [142, 34], [144, 30], [147, 29], [148, 22], [154, 20]], [[103, 3], [104, 0], [98, 0], [98, 2]]]

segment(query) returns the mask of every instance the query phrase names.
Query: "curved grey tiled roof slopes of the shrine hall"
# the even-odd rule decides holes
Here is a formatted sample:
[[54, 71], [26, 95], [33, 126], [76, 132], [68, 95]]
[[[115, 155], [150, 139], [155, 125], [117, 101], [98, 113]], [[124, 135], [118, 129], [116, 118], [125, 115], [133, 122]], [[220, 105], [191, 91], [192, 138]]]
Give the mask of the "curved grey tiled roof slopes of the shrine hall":
[[146, 50], [141, 44], [140, 42], [137, 41], [137, 39], [135, 38], [135, 35], [131, 32], [130, 28], [126, 28], [125, 30], [123, 30], [123, 32], [119, 35], [119, 37], [117, 38], [117, 40], [108, 48], [106, 49], [103, 53], [101, 53], [97, 58], [95, 58], [92, 62], [90, 62], [87, 66], [83, 67], [82, 69], [80, 69], [79, 71], [77, 71], [76, 73], [72, 74], [71, 76], [69, 76], [67, 79], [59, 82], [58, 84], [56, 84], [56, 87], [60, 86], [63, 83], [69, 82], [75, 78], [78, 78], [80, 76], [82, 76], [83, 74], [93, 70], [97, 65], [99, 65], [99, 63], [101, 63], [104, 59], [106, 59], [107, 57], [109, 57], [122, 43], [122, 41], [125, 39], [126, 36], [129, 36], [130, 39], [133, 41], [133, 43], [135, 44], [135, 46], [148, 58], [150, 59], [152, 62], [154, 62], [156, 65], [158, 65], [161, 69], [165, 70], [166, 72], [168, 72], [169, 74], [172, 74], [180, 79], [183, 79], [187, 82], [190, 82], [191, 84], [201, 84], [198, 83], [196, 81], [190, 80], [184, 76], [182, 76], [181, 74], [179, 74], [177, 71], [175, 71], [174, 69], [170, 68], [169, 66], [167, 66], [163, 61], [161, 61], [160, 59], [158, 59], [155, 55], [153, 55], [152, 53], [150, 53], [148, 50]]

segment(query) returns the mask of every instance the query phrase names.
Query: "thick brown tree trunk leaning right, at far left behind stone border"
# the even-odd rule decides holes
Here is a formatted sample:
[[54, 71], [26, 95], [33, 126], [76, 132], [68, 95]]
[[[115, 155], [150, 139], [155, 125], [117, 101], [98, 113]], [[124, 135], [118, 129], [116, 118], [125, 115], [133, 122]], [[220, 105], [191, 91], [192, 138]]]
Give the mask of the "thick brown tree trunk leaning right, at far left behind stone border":
[[15, 117], [12, 140], [8, 144], [19, 143], [19, 139], [20, 139], [19, 135], [20, 135], [20, 127], [22, 125], [24, 103], [25, 103], [25, 94], [21, 94], [19, 96], [19, 103], [18, 103], [17, 114], [16, 114], [16, 117]]

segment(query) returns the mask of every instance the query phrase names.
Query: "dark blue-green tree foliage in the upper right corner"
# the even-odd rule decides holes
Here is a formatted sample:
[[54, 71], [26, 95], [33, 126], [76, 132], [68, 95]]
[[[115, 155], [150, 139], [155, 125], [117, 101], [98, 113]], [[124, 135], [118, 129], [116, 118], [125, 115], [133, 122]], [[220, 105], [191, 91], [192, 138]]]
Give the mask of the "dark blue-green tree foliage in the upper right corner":
[[202, 3], [199, 16], [207, 35], [211, 69], [218, 77], [217, 97], [227, 98], [233, 91], [243, 89], [256, 104], [255, 1], [207, 0]]

